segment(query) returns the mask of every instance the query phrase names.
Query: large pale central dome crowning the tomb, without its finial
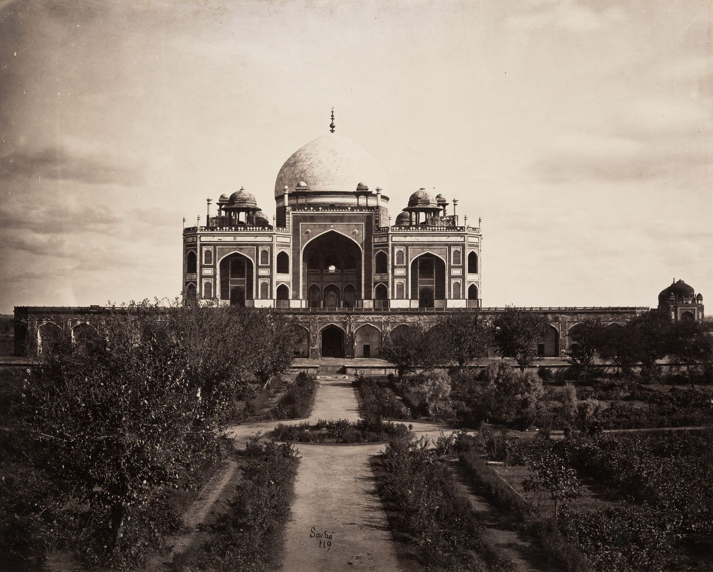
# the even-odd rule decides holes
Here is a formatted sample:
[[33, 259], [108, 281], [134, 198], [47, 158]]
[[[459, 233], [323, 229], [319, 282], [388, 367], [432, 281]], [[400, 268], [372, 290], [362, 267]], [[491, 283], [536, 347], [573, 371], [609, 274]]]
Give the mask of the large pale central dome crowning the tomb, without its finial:
[[292, 153], [277, 173], [275, 198], [282, 197], [285, 185], [292, 193], [301, 181], [312, 193], [353, 193], [359, 183], [366, 183], [372, 193], [376, 187], [389, 189], [379, 161], [337, 133], [327, 133]]

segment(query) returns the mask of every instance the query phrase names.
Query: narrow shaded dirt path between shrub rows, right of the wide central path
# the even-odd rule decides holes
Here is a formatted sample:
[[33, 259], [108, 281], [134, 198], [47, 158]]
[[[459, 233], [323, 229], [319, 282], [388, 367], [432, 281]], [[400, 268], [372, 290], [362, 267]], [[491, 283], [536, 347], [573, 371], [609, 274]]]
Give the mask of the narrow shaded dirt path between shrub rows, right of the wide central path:
[[486, 543], [497, 548], [506, 558], [510, 558], [518, 571], [550, 572], [558, 569], [548, 562], [543, 551], [535, 548], [506, 516], [473, 488], [470, 479], [456, 461], [452, 462], [451, 469], [456, 483], [471, 501], [473, 514], [483, 526], [483, 540]]

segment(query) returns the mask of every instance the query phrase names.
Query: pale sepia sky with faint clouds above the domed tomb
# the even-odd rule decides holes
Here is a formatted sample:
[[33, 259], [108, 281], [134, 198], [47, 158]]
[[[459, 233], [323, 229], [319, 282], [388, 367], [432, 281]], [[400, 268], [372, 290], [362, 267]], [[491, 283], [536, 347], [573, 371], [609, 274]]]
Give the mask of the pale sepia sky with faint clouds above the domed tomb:
[[271, 219], [332, 106], [392, 217], [482, 218], [483, 305], [705, 302], [711, 6], [0, 0], [0, 313], [175, 297], [182, 218], [243, 186]]

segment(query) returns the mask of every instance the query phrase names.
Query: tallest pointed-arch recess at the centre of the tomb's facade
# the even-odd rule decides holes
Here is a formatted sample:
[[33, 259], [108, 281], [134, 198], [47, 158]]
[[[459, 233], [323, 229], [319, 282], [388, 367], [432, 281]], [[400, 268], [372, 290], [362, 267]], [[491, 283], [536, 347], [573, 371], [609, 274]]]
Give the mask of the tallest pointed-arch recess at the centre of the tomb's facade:
[[329, 230], [302, 251], [302, 298], [312, 307], [354, 305], [361, 300], [361, 248]]

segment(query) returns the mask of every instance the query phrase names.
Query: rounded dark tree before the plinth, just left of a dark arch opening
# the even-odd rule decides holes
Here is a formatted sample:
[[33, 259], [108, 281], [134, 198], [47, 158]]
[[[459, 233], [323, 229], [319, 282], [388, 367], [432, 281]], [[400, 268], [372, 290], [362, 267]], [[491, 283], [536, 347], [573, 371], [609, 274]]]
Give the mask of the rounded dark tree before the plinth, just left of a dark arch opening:
[[493, 327], [493, 338], [501, 356], [515, 358], [520, 372], [525, 372], [525, 367], [539, 359], [538, 343], [547, 332], [549, 322], [540, 312], [506, 307]]

